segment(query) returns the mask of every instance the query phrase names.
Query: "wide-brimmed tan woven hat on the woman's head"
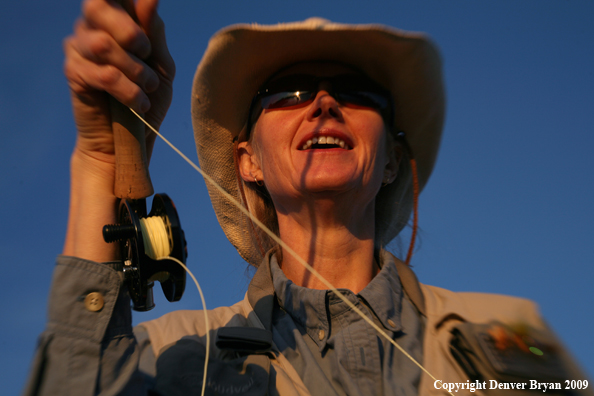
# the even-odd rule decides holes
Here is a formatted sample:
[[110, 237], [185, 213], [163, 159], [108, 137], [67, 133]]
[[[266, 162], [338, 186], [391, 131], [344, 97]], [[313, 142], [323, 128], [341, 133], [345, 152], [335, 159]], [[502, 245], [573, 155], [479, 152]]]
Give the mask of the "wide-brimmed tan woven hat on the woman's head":
[[[241, 202], [233, 140], [246, 125], [252, 98], [276, 71], [316, 60], [352, 65], [391, 91], [392, 131], [405, 132], [422, 188], [436, 160], [444, 121], [437, 48], [423, 34], [320, 18], [278, 25], [233, 25], [211, 38], [192, 89], [194, 137], [202, 169]], [[411, 213], [410, 177], [399, 174], [398, 178], [382, 188], [376, 200], [376, 235], [382, 245], [400, 232]], [[227, 238], [246, 261], [257, 266], [262, 252], [250, 236], [249, 219], [209, 183], [207, 187]]]

